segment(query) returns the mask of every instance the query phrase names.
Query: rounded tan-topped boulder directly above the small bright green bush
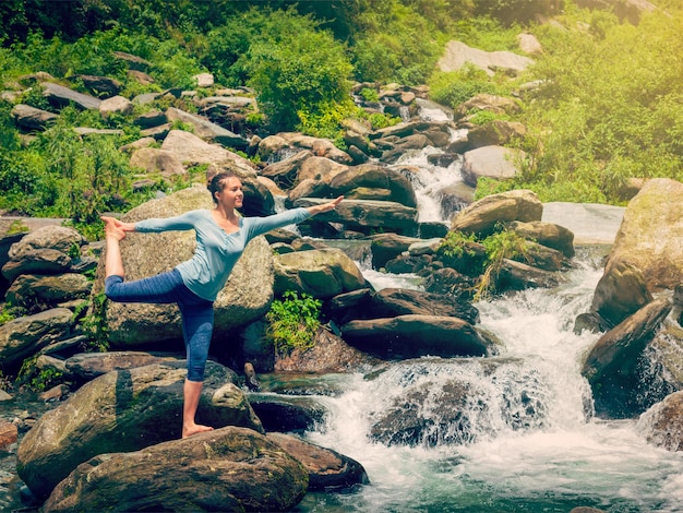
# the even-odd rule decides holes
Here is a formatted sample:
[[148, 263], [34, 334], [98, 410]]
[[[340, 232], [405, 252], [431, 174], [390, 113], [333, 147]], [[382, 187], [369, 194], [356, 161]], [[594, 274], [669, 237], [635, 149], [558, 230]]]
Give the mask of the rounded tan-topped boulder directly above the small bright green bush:
[[358, 265], [338, 249], [277, 254], [274, 262], [273, 290], [279, 296], [297, 290], [326, 299], [367, 286]]

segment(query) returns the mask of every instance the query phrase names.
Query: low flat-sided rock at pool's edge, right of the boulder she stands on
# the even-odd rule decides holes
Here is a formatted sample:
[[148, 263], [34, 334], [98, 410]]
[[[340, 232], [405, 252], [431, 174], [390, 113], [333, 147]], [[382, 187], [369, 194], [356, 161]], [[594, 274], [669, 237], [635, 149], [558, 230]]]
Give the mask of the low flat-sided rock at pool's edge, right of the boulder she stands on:
[[366, 469], [356, 460], [290, 434], [268, 433], [267, 438], [305, 467], [309, 491], [338, 492], [370, 484]]

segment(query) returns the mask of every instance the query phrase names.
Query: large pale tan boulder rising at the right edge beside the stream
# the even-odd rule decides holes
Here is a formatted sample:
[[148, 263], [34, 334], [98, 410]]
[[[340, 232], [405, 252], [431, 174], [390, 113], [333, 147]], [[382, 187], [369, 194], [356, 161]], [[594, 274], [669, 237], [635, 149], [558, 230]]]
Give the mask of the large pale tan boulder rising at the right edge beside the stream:
[[[628, 283], [643, 279], [638, 298], [683, 283], [683, 183], [657, 178], [631, 200], [596, 287], [592, 310], [621, 322], [643, 300], [634, 301]], [[628, 273], [625, 270], [630, 270]]]

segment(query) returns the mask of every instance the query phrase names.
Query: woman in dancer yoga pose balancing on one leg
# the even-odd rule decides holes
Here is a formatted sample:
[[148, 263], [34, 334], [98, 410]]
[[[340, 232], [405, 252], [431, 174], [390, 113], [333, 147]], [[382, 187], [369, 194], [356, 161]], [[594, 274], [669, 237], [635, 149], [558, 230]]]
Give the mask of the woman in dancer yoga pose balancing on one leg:
[[[107, 252], [105, 255], [105, 294], [117, 302], [177, 303], [182, 318], [182, 334], [188, 358], [188, 377], [183, 385], [182, 438], [211, 431], [194, 421], [202, 393], [204, 368], [214, 329], [214, 301], [230, 272], [256, 236], [334, 210], [344, 196], [328, 203], [292, 208], [267, 217], [240, 217], [244, 193], [240, 179], [221, 172], [208, 184], [215, 207], [195, 210], [165, 219], [123, 223], [103, 216]], [[192, 259], [156, 276], [124, 282], [120, 241], [127, 231], [159, 232], [195, 230], [196, 249]]]

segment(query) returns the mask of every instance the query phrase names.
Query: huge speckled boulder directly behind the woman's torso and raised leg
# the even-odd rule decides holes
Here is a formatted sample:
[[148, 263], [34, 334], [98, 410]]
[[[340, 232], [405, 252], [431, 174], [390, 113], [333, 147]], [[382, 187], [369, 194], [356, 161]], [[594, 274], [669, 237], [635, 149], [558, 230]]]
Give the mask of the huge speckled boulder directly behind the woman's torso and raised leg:
[[[193, 208], [212, 208], [206, 188], [196, 186], [160, 200], [140, 205], [123, 216], [137, 222], [151, 217], [170, 217]], [[173, 269], [192, 256], [195, 247], [193, 230], [163, 234], [128, 234], [121, 244], [127, 279], [137, 279]], [[163, 251], [159, 251], [163, 248]], [[263, 237], [252, 240], [239, 260], [226, 287], [215, 301], [214, 336], [227, 336], [231, 330], [249, 324], [263, 315], [273, 299], [273, 255]], [[104, 260], [93, 293], [104, 288]], [[117, 303], [108, 301], [105, 320], [109, 342], [115, 348], [178, 341], [182, 349], [180, 311], [175, 305]]]

